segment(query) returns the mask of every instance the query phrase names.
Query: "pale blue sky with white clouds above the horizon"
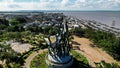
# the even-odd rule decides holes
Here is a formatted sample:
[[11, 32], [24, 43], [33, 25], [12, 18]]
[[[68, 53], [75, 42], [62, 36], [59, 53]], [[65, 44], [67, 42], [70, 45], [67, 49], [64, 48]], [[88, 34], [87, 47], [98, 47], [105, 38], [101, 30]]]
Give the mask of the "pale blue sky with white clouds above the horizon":
[[120, 10], [120, 0], [0, 0], [0, 11]]

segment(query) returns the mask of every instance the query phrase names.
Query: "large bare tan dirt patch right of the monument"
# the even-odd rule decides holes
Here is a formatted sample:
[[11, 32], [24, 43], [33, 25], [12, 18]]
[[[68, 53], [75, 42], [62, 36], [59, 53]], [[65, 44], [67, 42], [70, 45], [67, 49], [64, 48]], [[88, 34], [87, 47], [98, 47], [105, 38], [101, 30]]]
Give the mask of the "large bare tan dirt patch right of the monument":
[[73, 44], [73, 47], [75, 46], [79, 47], [80, 50], [78, 51], [84, 54], [88, 58], [89, 62], [98, 63], [104, 60], [107, 63], [118, 63], [120, 65], [120, 61], [118, 62], [114, 60], [113, 57], [111, 57], [101, 48], [94, 46], [93, 43], [89, 39], [79, 38], [77, 36], [73, 36], [73, 37], [74, 37], [73, 41], [80, 44], [80, 46]]

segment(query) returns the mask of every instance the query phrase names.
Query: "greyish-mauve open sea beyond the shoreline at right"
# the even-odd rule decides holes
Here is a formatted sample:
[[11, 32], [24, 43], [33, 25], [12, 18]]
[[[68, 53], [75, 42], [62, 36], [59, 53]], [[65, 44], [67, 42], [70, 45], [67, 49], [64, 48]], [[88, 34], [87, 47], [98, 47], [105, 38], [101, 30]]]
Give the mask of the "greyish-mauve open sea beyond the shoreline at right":
[[120, 28], [120, 11], [79, 11], [79, 12], [63, 12], [67, 16], [76, 17], [78, 19], [95, 20], [97, 22]]

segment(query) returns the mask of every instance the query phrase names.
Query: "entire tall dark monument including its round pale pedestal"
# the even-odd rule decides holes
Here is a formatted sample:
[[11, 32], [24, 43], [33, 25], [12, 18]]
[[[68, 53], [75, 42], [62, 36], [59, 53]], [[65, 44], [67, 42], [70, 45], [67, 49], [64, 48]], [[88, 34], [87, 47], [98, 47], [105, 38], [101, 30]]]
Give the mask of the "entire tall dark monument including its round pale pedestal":
[[48, 55], [46, 63], [50, 68], [69, 68], [73, 63], [70, 55], [71, 44], [66, 19], [59, 23], [57, 34], [48, 37]]

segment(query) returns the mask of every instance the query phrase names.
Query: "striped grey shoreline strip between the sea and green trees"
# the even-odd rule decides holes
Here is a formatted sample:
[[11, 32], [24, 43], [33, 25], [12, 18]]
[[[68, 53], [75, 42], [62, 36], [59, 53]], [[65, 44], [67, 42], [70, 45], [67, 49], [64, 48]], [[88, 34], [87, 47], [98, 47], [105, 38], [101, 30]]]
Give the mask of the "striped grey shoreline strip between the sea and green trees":
[[108, 33], [113, 33], [116, 36], [120, 37], [120, 28], [109, 26], [107, 24], [100, 23], [95, 20], [85, 20], [85, 19], [77, 19], [71, 16], [68, 16], [70, 20], [72, 21], [72, 26], [79, 25], [81, 28], [92, 28], [95, 30], [101, 30]]

